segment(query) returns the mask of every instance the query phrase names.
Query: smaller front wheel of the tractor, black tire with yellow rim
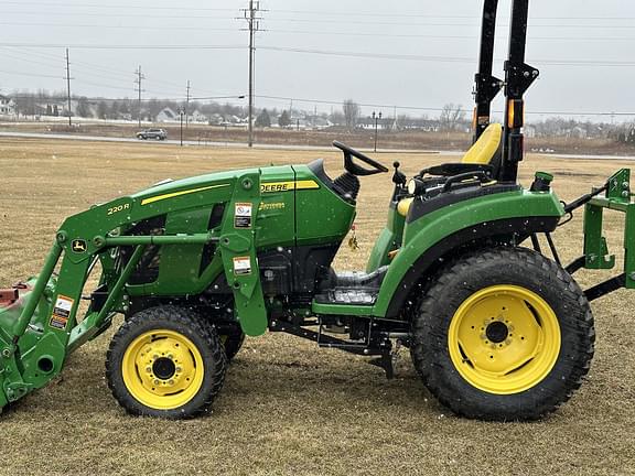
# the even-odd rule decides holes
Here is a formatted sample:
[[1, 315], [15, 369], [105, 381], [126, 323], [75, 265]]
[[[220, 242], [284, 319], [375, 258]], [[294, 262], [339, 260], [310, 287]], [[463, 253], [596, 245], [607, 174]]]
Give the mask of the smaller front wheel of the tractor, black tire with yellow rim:
[[121, 325], [107, 353], [106, 377], [128, 413], [185, 419], [209, 410], [226, 366], [215, 327], [190, 310], [165, 305]]

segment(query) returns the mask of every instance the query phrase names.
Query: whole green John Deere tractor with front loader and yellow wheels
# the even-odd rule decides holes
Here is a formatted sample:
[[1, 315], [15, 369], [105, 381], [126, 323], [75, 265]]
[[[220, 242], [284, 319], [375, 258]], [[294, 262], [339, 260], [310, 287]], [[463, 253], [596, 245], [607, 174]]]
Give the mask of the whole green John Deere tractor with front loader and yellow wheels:
[[[467, 418], [530, 420], [567, 401], [593, 357], [589, 301], [635, 288], [629, 171], [569, 205], [547, 173], [518, 184], [523, 98], [538, 71], [525, 64], [528, 0], [514, 0], [506, 77], [492, 76], [496, 10], [485, 0], [473, 147], [409, 181], [394, 164], [365, 271], [331, 264], [363, 177], [389, 169], [338, 142], [336, 178], [316, 160], [166, 181], [96, 205], [62, 224], [36, 278], [0, 292], [0, 408], [50, 382], [117, 313], [107, 380], [138, 415], [208, 411], [245, 336], [267, 331], [373, 357], [388, 377], [407, 347], [428, 389]], [[489, 121], [501, 90], [503, 126]], [[581, 206], [583, 255], [563, 267], [551, 232]], [[627, 215], [624, 273], [582, 291], [573, 272], [615, 264], [604, 208]], [[89, 278], [98, 285], [85, 295]]]

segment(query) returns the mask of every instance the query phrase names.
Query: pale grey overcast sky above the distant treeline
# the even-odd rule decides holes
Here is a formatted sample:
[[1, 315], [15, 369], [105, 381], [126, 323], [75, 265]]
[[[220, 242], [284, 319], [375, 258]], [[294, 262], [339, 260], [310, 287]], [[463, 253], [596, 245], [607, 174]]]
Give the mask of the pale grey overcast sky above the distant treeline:
[[[194, 97], [246, 94], [248, 35], [237, 17], [247, 3], [0, 0], [0, 93], [65, 88], [68, 45], [77, 95], [134, 97], [138, 65], [146, 76], [144, 97], [182, 98], [187, 79]], [[501, 0], [499, 77], [509, 3]], [[259, 107], [288, 108], [288, 98], [295, 98], [293, 107], [330, 111], [353, 98], [383, 105], [363, 112], [385, 116], [392, 115], [391, 106], [413, 116], [435, 116], [434, 109], [448, 102], [472, 108], [481, 1], [262, 0], [261, 8]], [[177, 45], [192, 47], [166, 48]], [[527, 96], [527, 111], [616, 112], [614, 121], [634, 119], [620, 116], [635, 112], [634, 45], [635, 2], [534, 0], [527, 62], [541, 77]]]

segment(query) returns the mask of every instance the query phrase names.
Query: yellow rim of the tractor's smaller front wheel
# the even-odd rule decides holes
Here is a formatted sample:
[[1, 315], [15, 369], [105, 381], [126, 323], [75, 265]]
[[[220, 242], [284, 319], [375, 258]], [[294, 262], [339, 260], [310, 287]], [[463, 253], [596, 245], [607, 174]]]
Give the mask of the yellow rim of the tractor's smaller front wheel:
[[155, 329], [141, 334], [126, 349], [123, 383], [140, 403], [155, 410], [174, 410], [203, 385], [203, 357], [182, 334]]

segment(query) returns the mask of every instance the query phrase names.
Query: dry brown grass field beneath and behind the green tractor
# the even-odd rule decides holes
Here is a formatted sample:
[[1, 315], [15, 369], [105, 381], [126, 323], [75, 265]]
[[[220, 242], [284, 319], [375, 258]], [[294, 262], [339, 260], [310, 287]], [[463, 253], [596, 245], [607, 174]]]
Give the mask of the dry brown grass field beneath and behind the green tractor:
[[[305, 163], [316, 152], [179, 148], [146, 143], [0, 140], [0, 284], [37, 273], [67, 215], [165, 177], [234, 167]], [[327, 170], [341, 154], [324, 152]], [[378, 154], [411, 175], [442, 155]], [[563, 199], [601, 185], [624, 161], [556, 161]], [[380, 230], [390, 177], [362, 180], [360, 249], [338, 269], [363, 268]], [[620, 215], [606, 220], [620, 255]], [[580, 255], [580, 214], [557, 232], [564, 261]], [[604, 274], [581, 273], [583, 286]], [[104, 378], [111, 332], [72, 355], [63, 377], [0, 415], [0, 474], [222, 475], [623, 475], [635, 474], [635, 292], [595, 301], [598, 342], [588, 381], [558, 412], [535, 423], [453, 416], [427, 392], [402, 351], [397, 378], [364, 358], [287, 335], [250, 338], [230, 366], [214, 411], [173, 422], [132, 418]], [[115, 323], [116, 327], [119, 321]]]

